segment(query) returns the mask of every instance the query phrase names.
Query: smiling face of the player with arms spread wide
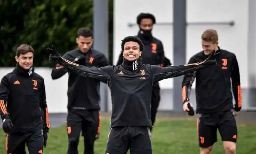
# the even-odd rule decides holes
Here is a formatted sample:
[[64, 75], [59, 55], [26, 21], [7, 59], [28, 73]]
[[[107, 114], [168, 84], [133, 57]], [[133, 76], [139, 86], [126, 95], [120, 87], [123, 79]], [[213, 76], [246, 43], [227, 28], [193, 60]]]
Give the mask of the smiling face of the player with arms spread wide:
[[140, 45], [137, 42], [129, 41], [124, 44], [123, 56], [128, 61], [133, 61], [141, 56]]

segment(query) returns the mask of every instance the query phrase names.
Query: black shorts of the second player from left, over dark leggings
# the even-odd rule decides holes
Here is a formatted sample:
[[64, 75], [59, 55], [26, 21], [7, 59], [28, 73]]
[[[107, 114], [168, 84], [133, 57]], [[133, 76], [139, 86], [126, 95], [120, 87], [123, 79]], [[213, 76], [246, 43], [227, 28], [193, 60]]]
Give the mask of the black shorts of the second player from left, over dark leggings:
[[69, 141], [78, 141], [81, 131], [88, 140], [95, 141], [100, 132], [99, 110], [68, 110], [67, 133]]

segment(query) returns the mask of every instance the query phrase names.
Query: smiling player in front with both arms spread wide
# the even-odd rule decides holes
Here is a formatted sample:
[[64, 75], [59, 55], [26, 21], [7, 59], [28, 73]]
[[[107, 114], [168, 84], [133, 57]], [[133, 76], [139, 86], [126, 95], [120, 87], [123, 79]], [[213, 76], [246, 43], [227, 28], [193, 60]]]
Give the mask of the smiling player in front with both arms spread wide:
[[151, 154], [151, 95], [152, 85], [213, 65], [214, 61], [161, 67], [141, 64], [143, 43], [134, 36], [122, 40], [124, 61], [118, 66], [84, 67], [62, 58], [54, 48], [50, 60], [56, 60], [81, 76], [107, 81], [111, 91], [112, 115], [106, 154]]

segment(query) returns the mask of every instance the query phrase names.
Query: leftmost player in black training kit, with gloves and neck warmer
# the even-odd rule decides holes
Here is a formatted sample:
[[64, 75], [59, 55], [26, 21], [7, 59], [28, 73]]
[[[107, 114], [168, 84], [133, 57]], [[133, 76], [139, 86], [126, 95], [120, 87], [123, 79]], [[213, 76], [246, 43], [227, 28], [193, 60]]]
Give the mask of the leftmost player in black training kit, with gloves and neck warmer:
[[16, 68], [0, 83], [0, 115], [6, 133], [7, 153], [42, 154], [50, 128], [44, 79], [34, 72], [34, 49], [22, 44]]

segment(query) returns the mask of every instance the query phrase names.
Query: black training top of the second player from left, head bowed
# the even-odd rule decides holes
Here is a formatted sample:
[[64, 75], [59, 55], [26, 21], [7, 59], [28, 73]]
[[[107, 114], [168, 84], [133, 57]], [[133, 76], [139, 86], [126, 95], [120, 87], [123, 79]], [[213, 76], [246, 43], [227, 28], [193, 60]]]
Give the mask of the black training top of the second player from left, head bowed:
[[[68, 51], [63, 55], [64, 58], [74, 61], [80, 55], [85, 56], [84, 66], [104, 67], [109, 62], [106, 56], [94, 49], [90, 49], [87, 53], [82, 53], [79, 49]], [[68, 106], [84, 108], [84, 109], [100, 109], [100, 81], [97, 79], [82, 77], [72, 71], [64, 68], [60, 64], [52, 70], [52, 79], [58, 79], [68, 72]]]

